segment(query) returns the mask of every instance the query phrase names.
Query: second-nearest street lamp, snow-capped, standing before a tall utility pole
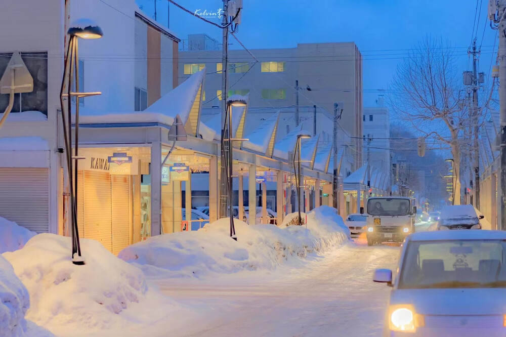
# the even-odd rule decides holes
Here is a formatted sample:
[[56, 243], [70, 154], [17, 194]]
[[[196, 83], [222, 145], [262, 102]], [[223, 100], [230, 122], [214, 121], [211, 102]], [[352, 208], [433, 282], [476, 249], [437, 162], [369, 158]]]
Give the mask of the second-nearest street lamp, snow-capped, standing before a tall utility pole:
[[[242, 142], [247, 141], [245, 138], [232, 138], [232, 107], [244, 107], [246, 106], [246, 99], [240, 95], [232, 95], [227, 100], [227, 109], [225, 114], [225, 125], [223, 125], [222, 137], [221, 137], [221, 145], [224, 151], [222, 151], [223, 157], [222, 160], [225, 162], [225, 168], [227, 173], [227, 186], [228, 186], [228, 212], [230, 218], [230, 237], [237, 241], [237, 236], [235, 235], [235, 227], [234, 227], [234, 213], [232, 212], [232, 178], [233, 178], [233, 156], [232, 156], [232, 142]], [[249, 177], [251, 179], [251, 177]]]

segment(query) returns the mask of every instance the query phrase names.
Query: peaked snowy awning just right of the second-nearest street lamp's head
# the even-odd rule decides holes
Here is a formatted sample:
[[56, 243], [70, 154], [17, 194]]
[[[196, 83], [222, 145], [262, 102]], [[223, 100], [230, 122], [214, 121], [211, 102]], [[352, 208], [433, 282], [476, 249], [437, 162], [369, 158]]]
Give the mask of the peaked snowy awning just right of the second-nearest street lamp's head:
[[274, 148], [274, 139], [279, 120], [279, 111], [267, 118], [257, 129], [246, 136], [247, 141], [242, 143], [243, 150], [250, 150], [271, 157]]

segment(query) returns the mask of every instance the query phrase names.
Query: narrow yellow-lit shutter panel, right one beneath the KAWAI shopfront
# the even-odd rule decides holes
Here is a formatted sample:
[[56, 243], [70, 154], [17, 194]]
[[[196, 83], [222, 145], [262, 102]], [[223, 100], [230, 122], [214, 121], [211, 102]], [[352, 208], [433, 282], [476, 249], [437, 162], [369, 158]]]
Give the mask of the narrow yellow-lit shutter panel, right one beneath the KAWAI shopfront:
[[112, 253], [117, 255], [130, 244], [132, 215], [130, 205], [130, 180], [128, 175], [112, 177]]

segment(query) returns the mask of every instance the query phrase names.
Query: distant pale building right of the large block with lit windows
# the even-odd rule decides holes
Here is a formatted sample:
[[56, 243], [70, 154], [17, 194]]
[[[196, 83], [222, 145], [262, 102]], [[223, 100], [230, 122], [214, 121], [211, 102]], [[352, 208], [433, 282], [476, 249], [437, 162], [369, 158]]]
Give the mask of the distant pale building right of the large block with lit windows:
[[[384, 171], [390, 170], [390, 117], [388, 108], [384, 106], [383, 96], [376, 100], [377, 106], [365, 107], [362, 115], [364, 140], [363, 158], [367, 159], [369, 150], [369, 164], [382, 168]], [[371, 138], [371, 143], [367, 145], [367, 138]]]

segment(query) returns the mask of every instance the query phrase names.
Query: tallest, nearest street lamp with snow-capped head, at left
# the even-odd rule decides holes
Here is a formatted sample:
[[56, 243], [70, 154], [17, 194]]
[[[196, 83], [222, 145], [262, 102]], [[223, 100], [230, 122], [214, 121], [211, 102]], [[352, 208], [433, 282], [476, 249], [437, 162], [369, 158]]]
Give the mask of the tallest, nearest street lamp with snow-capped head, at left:
[[[75, 21], [67, 31], [69, 35], [68, 47], [65, 54], [63, 66], [63, 79], [60, 90], [60, 104], [63, 122], [63, 137], [65, 140], [65, 150], [67, 155], [68, 187], [70, 199], [70, 223], [72, 236], [72, 263], [74, 265], [83, 265], [85, 261], [81, 257], [81, 248], [79, 244], [79, 232], [77, 229], [77, 160], [79, 144], [79, 98], [100, 95], [100, 92], [81, 93], [79, 92], [79, 56], [77, 48], [77, 37], [85, 39], [94, 39], [102, 37], [102, 29], [89, 19], [80, 19]], [[75, 77], [74, 77], [75, 74]], [[75, 92], [72, 91], [72, 84], [75, 85]], [[75, 153], [72, 155], [72, 113], [71, 98], [75, 97]], [[63, 99], [67, 98], [67, 111], [65, 116]], [[74, 165], [72, 166], [72, 159]], [[74, 176], [72, 177], [72, 173]]]

